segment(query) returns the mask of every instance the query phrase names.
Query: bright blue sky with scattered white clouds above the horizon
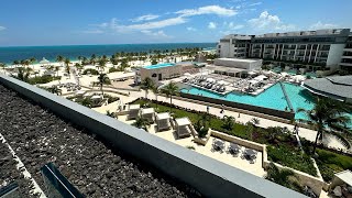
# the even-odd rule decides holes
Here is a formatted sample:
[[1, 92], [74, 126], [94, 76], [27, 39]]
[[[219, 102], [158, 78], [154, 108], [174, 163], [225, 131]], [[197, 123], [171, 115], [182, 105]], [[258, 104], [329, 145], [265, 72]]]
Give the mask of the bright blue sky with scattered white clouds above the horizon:
[[200, 43], [352, 28], [352, 0], [1, 0], [0, 46]]

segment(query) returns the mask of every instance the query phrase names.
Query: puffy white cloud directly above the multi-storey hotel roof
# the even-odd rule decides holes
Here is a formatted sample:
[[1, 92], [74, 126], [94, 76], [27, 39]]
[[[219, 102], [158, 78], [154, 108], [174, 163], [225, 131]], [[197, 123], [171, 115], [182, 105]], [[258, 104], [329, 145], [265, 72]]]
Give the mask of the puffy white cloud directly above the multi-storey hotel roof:
[[277, 15], [272, 15], [267, 11], [261, 13], [258, 18], [248, 21], [249, 24], [258, 31], [289, 31], [294, 30], [295, 25], [283, 23]]

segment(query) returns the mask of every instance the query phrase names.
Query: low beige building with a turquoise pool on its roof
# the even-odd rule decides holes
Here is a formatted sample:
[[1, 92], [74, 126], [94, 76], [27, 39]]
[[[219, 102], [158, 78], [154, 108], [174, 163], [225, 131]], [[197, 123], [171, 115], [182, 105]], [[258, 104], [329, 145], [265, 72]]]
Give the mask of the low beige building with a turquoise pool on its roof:
[[180, 62], [176, 64], [165, 63], [142, 67], [136, 72], [135, 82], [139, 84], [146, 77], [150, 77], [155, 84], [161, 80], [177, 78], [184, 74], [198, 73], [200, 67], [205, 66], [196, 62]]

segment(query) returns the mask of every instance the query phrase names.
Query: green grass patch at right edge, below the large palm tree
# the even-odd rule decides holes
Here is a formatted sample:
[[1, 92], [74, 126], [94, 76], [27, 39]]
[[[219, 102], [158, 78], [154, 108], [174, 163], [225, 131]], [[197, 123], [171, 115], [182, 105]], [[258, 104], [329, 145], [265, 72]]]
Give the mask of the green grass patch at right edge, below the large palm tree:
[[352, 157], [321, 148], [317, 148], [317, 164], [326, 182], [331, 182], [333, 174], [338, 172], [352, 170]]

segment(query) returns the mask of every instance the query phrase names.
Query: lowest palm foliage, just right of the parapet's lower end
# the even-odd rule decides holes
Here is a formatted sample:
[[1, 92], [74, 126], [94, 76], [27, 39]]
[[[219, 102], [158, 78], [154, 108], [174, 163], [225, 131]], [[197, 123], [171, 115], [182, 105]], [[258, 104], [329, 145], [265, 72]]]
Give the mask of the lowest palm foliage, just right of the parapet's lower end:
[[287, 188], [301, 191], [301, 187], [295, 180], [295, 178], [297, 178], [297, 175], [293, 170], [287, 168], [278, 169], [278, 167], [273, 163], [268, 165], [267, 175], [265, 176], [265, 178]]

